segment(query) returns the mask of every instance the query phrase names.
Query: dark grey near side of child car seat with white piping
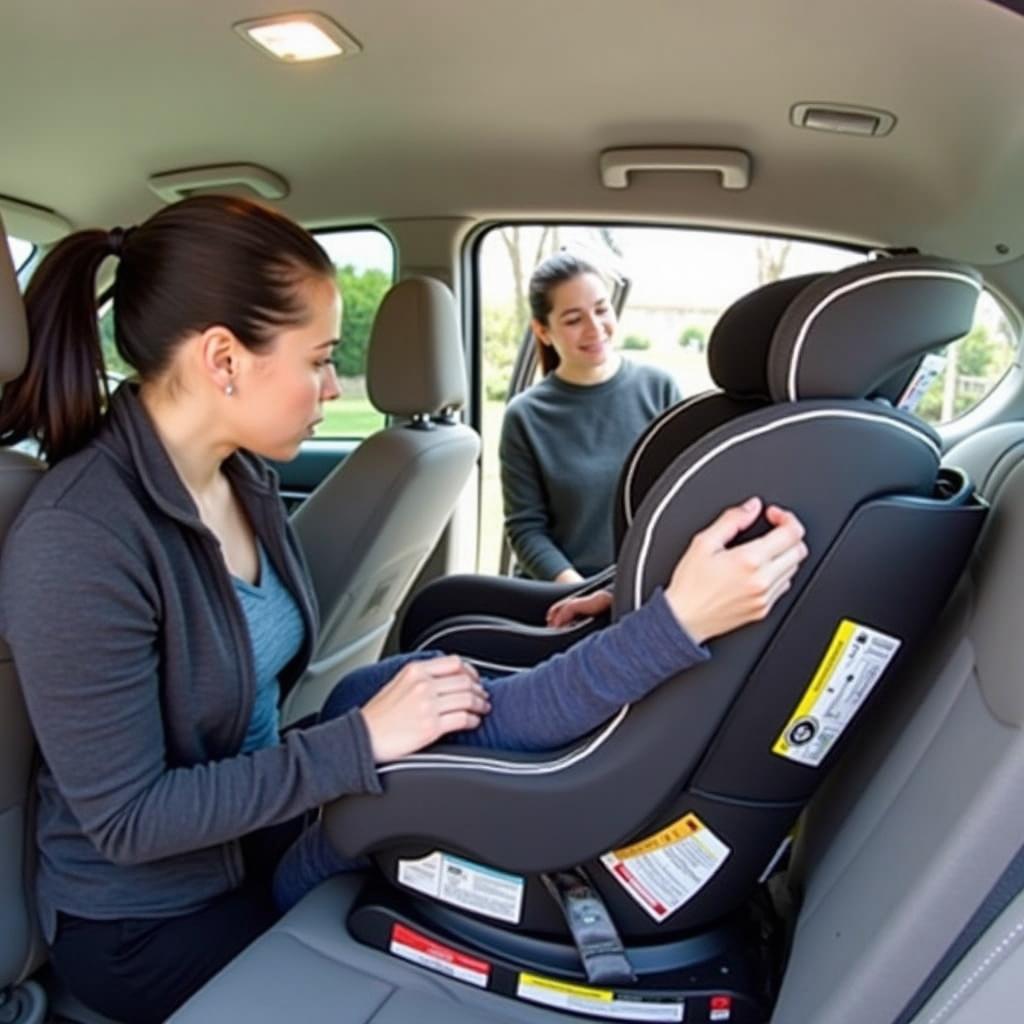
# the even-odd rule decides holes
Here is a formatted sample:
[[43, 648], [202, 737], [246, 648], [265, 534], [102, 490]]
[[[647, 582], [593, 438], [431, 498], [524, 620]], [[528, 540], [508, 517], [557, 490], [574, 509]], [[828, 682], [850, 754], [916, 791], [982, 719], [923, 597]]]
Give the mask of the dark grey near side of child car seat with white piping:
[[[805, 522], [810, 555], [791, 592], [767, 621], [714, 641], [709, 663], [567, 749], [439, 745], [382, 766], [382, 798], [326, 808], [335, 846], [371, 853], [394, 887], [365, 937], [387, 948], [381, 914], [400, 921], [415, 904], [464, 948], [537, 963], [564, 941], [548, 883], [572, 865], [627, 948], [708, 935], [748, 900], [885, 689], [876, 684], [899, 679], [980, 528], [984, 506], [962, 473], [940, 471], [934, 432], [862, 397], [966, 334], [979, 289], [970, 268], [899, 257], [792, 297], [765, 361], [772, 403], [689, 444], [653, 483], [620, 549], [612, 615], [646, 600], [689, 538], [751, 494]], [[826, 684], [843, 694], [827, 715], [840, 698], [821, 695]], [[677, 847], [688, 839], [699, 855]], [[692, 868], [671, 899], [629, 881], [629, 865], [665, 847]], [[502, 915], [432, 890], [424, 879], [447, 863], [499, 872], [518, 893], [514, 908]], [[567, 956], [555, 957], [562, 975], [586, 977]]]

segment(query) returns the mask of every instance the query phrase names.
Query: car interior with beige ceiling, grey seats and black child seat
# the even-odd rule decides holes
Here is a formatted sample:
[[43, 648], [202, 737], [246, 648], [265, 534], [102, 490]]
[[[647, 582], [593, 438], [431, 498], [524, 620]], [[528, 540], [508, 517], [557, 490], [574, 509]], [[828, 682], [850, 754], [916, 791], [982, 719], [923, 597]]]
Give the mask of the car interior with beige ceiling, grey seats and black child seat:
[[[509, 672], [605, 625], [548, 629], [577, 588], [502, 551], [525, 281], [562, 248], [683, 393], [584, 585], [610, 618], [750, 493], [808, 523], [775, 614], [578, 743], [441, 743], [324, 808], [370, 866], [175, 1024], [1020, 1018], [1024, 5], [9, 0], [0, 25], [0, 381], [72, 230], [227, 193], [335, 262], [342, 396], [274, 466], [323, 623], [286, 723], [384, 653]], [[0, 450], [0, 538], [45, 469]], [[0, 1022], [111, 1024], [46, 963], [37, 757], [0, 641]]]

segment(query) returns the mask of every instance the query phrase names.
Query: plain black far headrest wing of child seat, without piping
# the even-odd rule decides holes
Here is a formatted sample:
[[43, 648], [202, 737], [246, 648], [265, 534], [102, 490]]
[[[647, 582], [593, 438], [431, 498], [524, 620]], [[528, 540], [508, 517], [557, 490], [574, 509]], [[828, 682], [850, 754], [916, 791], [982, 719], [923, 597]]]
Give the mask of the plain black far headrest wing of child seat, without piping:
[[719, 317], [708, 342], [712, 379], [736, 398], [768, 399], [768, 350], [794, 298], [823, 274], [785, 278], [737, 299]]

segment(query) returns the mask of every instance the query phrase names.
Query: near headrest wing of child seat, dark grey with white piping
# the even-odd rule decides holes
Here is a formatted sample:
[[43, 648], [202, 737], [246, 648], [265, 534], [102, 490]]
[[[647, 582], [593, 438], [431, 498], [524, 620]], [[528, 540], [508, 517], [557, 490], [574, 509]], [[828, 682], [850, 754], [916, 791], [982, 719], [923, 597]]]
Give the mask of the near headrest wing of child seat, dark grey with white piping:
[[932, 256], [893, 256], [809, 284], [768, 352], [774, 401], [861, 398], [971, 330], [981, 275]]

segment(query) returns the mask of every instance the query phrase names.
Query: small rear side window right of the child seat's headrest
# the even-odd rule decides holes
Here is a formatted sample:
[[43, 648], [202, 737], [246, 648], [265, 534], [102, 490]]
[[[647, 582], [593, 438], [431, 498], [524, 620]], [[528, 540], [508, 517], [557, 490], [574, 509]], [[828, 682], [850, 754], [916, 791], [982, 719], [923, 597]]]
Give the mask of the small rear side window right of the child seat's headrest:
[[1017, 357], [1019, 344], [1002, 306], [991, 293], [982, 292], [970, 334], [926, 357], [915, 382], [924, 393], [905, 396], [903, 404], [932, 424], [955, 420], [1002, 380]]

